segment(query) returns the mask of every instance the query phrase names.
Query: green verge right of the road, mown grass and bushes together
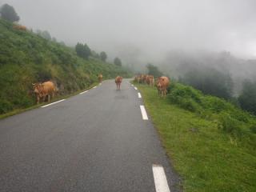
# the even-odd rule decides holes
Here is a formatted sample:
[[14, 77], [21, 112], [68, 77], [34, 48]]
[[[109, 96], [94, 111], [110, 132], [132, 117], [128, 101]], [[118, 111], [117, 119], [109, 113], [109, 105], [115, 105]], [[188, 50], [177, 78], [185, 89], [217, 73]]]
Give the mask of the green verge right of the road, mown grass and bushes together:
[[174, 83], [166, 98], [137, 85], [184, 191], [256, 191], [256, 118]]

